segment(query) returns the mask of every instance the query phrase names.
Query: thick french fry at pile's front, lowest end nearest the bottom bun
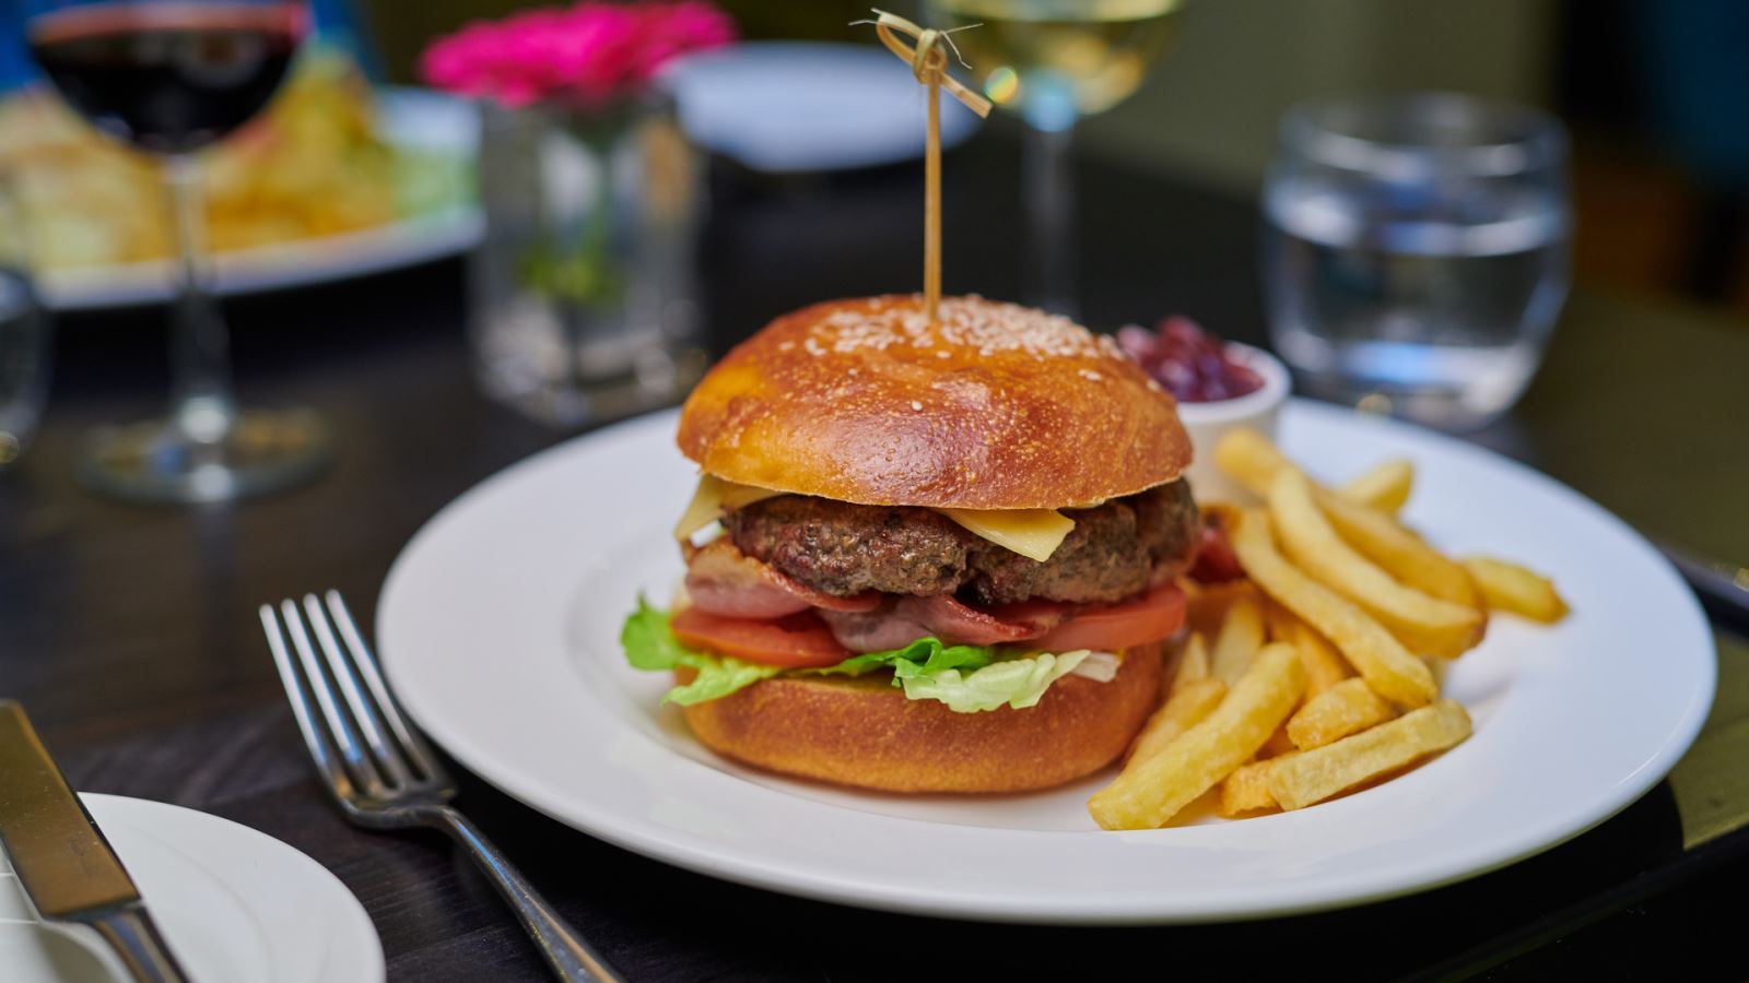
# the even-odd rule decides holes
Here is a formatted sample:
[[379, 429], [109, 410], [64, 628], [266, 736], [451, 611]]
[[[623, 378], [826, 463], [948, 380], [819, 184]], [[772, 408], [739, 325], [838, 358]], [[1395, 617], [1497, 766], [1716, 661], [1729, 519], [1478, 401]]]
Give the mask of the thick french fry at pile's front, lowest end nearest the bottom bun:
[[1088, 799], [1104, 829], [1154, 829], [1249, 761], [1305, 691], [1300, 654], [1265, 645], [1212, 714]]

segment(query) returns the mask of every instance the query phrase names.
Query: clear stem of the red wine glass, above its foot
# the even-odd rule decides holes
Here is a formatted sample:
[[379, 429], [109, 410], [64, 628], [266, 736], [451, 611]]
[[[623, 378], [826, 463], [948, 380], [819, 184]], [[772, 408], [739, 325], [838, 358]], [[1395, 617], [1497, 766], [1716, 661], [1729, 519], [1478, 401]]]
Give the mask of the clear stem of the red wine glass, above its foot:
[[213, 444], [236, 420], [231, 395], [231, 352], [224, 317], [212, 294], [206, 264], [206, 215], [199, 168], [191, 154], [163, 159], [177, 241], [177, 308], [170, 341], [171, 422], [191, 441]]

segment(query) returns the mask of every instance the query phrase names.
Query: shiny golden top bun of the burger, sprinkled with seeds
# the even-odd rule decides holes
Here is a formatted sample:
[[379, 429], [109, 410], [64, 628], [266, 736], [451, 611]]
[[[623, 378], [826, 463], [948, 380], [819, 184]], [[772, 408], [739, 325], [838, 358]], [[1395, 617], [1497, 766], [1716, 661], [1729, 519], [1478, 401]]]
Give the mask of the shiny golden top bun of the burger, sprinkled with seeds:
[[1109, 338], [1032, 308], [946, 297], [813, 304], [722, 359], [680, 451], [742, 485], [864, 505], [1056, 509], [1174, 481], [1172, 397]]

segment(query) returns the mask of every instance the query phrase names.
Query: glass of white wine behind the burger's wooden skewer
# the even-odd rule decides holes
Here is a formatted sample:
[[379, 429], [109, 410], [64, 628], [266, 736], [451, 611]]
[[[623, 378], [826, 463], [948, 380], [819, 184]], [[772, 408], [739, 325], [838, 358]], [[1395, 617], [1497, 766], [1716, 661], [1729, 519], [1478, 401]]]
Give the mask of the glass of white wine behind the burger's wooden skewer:
[[1126, 100], [1177, 35], [1184, 0], [930, 0], [995, 105], [1027, 124], [1021, 184], [1027, 203], [1025, 299], [1077, 313], [1074, 184], [1069, 138], [1084, 115]]

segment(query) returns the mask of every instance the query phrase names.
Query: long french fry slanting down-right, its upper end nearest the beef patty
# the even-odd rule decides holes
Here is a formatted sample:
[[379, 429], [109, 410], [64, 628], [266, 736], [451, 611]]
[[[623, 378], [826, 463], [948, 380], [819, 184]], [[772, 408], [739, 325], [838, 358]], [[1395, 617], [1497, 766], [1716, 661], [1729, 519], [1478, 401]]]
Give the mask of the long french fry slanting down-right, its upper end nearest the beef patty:
[[1268, 512], [1247, 509], [1231, 535], [1238, 563], [1252, 582], [1329, 638], [1375, 693], [1404, 707], [1424, 707], [1438, 696], [1427, 666], [1383, 624], [1282, 558]]

